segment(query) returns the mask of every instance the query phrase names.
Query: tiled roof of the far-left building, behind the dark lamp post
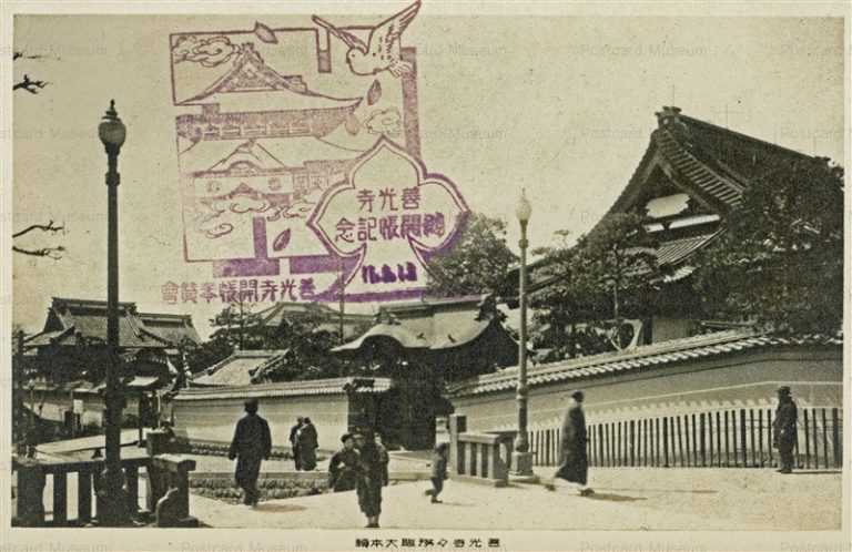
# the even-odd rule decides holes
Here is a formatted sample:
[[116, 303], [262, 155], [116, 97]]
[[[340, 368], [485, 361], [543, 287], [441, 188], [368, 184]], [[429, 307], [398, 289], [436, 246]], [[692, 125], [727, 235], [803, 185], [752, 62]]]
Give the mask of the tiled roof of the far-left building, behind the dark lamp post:
[[[27, 339], [29, 349], [106, 341], [106, 301], [53, 297], [41, 333]], [[135, 303], [119, 304], [119, 343], [124, 349], [200, 344], [190, 315], [139, 313]]]

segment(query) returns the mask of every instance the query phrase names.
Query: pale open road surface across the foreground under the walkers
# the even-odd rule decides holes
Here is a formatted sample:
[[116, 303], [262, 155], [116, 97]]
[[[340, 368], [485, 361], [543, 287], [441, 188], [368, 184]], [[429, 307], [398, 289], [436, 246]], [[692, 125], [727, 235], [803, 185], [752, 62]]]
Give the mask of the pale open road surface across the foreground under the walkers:
[[[494, 489], [449, 481], [444, 504], [425, 482], [385, 489], [382, 524], [396, 529], [838, 530], [841, 474], [770, 470], [609, 469], [592, 473], [597, 494], [541, 485]], [[779, 508], [780, 501], [784, 508]], [[272, 500], [255, 509], [193, 494], [191, 510], [216, 528], [354, 529], [354, 493]]]

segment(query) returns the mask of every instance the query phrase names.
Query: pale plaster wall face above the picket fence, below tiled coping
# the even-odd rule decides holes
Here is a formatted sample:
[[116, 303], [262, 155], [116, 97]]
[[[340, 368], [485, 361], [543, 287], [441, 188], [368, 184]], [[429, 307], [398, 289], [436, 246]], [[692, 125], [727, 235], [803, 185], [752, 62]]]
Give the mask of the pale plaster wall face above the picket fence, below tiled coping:
[[[589, 423], [732, 408], [774, 408], [789, 385], [800, 408], [843, 406], [843, 365], [836, 351], [747, 352], [704, 361], [532, 387], [529, 429], [558, 428], [574, 389], [586, 393]], [[469, 431], [517, 428], [514, 389], [452, 399]]]

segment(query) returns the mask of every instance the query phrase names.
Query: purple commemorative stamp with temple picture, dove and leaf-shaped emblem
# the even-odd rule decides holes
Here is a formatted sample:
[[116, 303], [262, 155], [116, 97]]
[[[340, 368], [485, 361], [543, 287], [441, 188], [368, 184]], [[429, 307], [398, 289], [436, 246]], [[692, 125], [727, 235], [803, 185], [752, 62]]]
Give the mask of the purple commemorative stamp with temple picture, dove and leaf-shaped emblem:
[[214, 278], [310, 279], [313, 300], [422, 293], [425, 260], [468, 208], [420, 159], [416, 49], [403, 45], [418, 10], [171, 35], [186, 262]]

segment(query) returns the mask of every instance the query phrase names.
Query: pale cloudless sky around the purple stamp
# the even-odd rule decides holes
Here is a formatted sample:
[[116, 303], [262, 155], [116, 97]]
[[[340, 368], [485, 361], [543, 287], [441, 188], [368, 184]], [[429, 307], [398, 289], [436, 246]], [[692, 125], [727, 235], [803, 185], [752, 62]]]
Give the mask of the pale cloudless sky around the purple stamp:
[[[374, 24], [389, 13], [336, 16]], [[120, 157], [120, 296], [185, 313], [202, 335], [221, 305], [166, 305], [164, 282], [210, 278], [182, 251], [169, 34], [312, 25], [308, 14], [17, 16], [14, 64], [50, 81], [13, 95], [13, 229], [53, 219], [60, 260], [13, 256], [13, 324], [38, 331], [51, 297], [105, 298], [105, 157], [110, 99], [128, 126]], [[403, 35], [417, 48], [423, 160], [469, 207], [509, 223], [520, 188], [529, 241], [579, 236], [602, 216], [648, 146], [663, 105], [808, 154], [843, 160], [843, 24], [816, 18], [438, 16]], [[339, 53], [341, 50], [337, 50]], [[349, 305], [373, 311], [376, 305]]]

